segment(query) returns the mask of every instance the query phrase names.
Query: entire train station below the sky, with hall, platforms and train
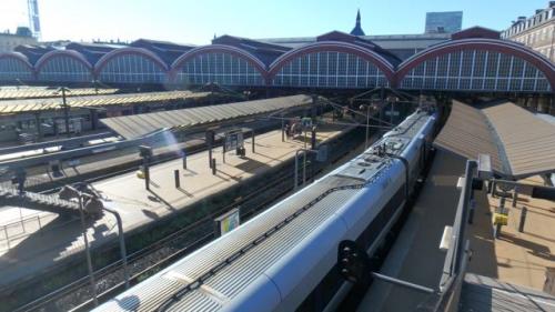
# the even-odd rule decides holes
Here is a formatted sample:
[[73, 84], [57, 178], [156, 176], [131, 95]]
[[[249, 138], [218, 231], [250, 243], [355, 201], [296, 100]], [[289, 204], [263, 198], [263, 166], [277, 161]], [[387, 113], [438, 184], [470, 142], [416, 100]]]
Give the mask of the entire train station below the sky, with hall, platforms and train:
[[0, 312], [555, 311], [553, 1], [209, 44], [47, 41], [28, 2]]

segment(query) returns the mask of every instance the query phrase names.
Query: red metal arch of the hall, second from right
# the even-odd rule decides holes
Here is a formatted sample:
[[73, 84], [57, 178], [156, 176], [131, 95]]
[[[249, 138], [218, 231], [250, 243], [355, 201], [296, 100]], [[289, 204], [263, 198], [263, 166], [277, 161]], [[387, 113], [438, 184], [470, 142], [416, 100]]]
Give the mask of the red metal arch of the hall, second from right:
[[374, 66], [376, 66], [392, 82], [395, 72], [393, 64], [391, 64], [386, 59], [377, 54], [376, 52], [346, 42], [315, 42], [312, 44], [304, 46], [299, 49], [293, 49], [280, 58], [278, 58], [271, 66], [269, 71], [270, 81], [274, 76], [290, 61], [300, 58], [304, 54], [315, 53], [315, 52], [344, 52], [350, 54], [355, 54]]

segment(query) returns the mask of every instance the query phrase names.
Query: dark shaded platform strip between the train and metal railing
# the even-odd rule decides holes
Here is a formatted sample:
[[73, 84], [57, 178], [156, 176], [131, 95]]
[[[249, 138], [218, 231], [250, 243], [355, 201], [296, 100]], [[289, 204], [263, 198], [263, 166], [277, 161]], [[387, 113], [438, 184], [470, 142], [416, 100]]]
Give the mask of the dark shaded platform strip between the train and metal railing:
[[[380, 273], [437, 289], [445, 252], [440, 250], [445, 225], [453, 224], [465, 160], [437, 150], [427, 179]], [[414, 311], [432, 299], [414, 290], [374, 280], [357, 311]]]

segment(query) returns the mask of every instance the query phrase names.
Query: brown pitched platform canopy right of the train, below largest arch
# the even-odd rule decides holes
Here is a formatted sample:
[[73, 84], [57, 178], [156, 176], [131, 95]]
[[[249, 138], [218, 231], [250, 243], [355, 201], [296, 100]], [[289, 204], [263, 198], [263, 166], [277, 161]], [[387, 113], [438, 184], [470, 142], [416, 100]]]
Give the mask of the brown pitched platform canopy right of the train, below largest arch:
[[453, 101], [434, 145], [467, 159], [490, 154], [493, 171], [506, 179], [555, 172], [555, 125], [511, 102]]

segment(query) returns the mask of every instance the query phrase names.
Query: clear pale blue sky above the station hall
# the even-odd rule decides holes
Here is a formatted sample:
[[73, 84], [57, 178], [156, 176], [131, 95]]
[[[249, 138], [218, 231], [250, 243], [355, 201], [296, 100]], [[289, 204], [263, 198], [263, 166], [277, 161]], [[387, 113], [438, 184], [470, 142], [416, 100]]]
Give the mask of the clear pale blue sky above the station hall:
[[[42, 39], [170, 40], [210, 43], [214, 33], [248, 38], [349, 32], [361, 9], [367, 34], [421, 33], [428, 11], [463, 14], [463, 28], [504, 29], [547, 0], [39, 0]], [[0, 31], [27, 26], [27, 0], [1, 0]]]

